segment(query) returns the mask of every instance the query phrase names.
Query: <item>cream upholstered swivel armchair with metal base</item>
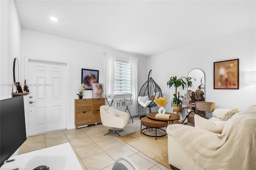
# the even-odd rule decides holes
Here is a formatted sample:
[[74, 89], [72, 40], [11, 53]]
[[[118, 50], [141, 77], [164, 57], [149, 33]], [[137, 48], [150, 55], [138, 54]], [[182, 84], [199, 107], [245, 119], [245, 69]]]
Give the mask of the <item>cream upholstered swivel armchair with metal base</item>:
[[[103, 105], [100, 107], [100, 119], [101, 119], [102, 125], [106, 127], [113, 127], [113, 130], [108, 129], [110, 132], [104, 134], [104, 136], [110, 133], [118, 134], [118, 132], [123, 131], [123, 129], [116, 130], [116, 128], [124, 128], [127, 125], [130, 118], [128, 113], [119, 111], [117, 109], [114, 109], [114, 111], [116, 111], [116, 113], [119, 116], [114, 116], [109, 113], [106, 113], [110, 108], [112, 107], [109, 107], [106, 105]], [[118, 135], [120, 136], [120, 134]]]

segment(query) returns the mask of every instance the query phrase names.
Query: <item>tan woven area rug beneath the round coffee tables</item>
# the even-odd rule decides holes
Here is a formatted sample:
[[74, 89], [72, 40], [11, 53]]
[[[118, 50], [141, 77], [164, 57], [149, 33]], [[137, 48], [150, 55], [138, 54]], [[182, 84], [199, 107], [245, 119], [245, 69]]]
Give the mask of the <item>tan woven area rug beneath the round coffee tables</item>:
[[146, 156], [170, 169], [166, 136], [154, 138], [140, 134], [140, 130], [119, 137], [122, 141], [139, 150]]

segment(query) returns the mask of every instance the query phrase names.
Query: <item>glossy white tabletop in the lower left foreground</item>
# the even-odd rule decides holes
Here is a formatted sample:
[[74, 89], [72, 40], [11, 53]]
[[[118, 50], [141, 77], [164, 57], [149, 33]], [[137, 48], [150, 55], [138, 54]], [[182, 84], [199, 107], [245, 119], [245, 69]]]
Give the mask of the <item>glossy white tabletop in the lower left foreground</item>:
[[4, 164], [1, 170], [33, 170], [40, 165], [46, 165], [50, 170], [82, 170], [69, 143], [12, 156], [10, 159], [15, 161]]

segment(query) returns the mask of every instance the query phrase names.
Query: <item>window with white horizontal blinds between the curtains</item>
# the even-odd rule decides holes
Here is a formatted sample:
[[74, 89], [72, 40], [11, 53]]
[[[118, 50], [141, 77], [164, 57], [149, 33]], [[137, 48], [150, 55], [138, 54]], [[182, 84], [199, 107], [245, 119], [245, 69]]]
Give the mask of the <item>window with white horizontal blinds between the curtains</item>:
[[130, 63], [116, 60], [114, 94], [120, 93], [131, 93]]

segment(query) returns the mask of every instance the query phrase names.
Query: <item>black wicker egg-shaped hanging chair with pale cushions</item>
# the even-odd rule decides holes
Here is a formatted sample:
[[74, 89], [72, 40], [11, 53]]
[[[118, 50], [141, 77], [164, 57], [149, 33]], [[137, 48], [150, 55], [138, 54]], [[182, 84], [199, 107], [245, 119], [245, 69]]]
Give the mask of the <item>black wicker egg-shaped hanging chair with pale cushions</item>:
[[[156, 106], [156, 103], [154, 103], [154, 98], [156, 96], [162, 97], [162, 91], [161, 91], [160, 87], [156, 84], [156, 82], [152, 79], [152, 77], [149, 77], [151, 71], [152, 70], [150, 70], [148, 73], [148, 81], [146, 81], [146, 83], [144, 83], [144, 85], [140, 89], [140, 93], [139, 93], [140, 97], [148, 96], [148, 100], [152, 99], [152, 102], [147, 106], [147, 107], [149, 107], [149, 109], [150, 109], [150, 107]], [[150, 109], [150, 112], [151, 112], [151, 109]]]

